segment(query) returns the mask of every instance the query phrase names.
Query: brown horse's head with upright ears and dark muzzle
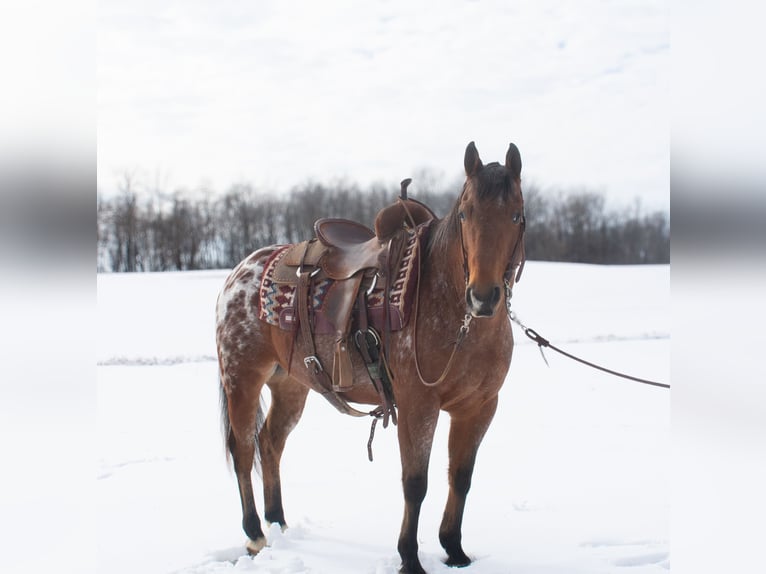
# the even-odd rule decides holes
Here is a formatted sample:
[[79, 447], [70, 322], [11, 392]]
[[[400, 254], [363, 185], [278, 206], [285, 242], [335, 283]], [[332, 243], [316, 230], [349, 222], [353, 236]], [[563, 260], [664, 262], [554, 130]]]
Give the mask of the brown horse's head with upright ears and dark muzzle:
[[524, 263], [521, 155], [511, 144], [505, 165], [482, 164], [473, 142], [465, 150], [466, 181], [457, 209], [467, 312], [491, 317], [518, 281]]

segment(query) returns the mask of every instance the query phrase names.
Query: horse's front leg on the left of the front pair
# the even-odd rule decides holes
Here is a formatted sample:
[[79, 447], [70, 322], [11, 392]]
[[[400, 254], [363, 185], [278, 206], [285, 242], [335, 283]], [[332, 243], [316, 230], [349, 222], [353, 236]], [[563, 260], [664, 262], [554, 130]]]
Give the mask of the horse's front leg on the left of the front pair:
[[399, 532], [399, 555], [402, 558], [400, 574], [425, 574], [418, 559], [418, 519], [420, 507], [428, 489], [428, 460], [431, 456], [436, 422], [437, 404], [417, 401], [414, 408], [399, 407], [399, 453], [402, 459], [402, 488], [404, 490], [404, 518]]

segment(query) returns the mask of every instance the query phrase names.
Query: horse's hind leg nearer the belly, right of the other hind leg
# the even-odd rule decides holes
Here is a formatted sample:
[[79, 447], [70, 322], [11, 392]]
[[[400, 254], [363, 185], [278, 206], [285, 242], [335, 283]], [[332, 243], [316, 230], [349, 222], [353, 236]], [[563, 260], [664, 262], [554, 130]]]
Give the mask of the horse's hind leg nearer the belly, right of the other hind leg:
[[287, 436], [303, 414], [309, 389], [290, 379], [282, 369], [277, 369], [268, 385], [271, 390], [271, 407], [260, 435], [263, 498], [266, 520], [279, 524], [284, 530], [287, 523], [282, 507], [279, 465]]

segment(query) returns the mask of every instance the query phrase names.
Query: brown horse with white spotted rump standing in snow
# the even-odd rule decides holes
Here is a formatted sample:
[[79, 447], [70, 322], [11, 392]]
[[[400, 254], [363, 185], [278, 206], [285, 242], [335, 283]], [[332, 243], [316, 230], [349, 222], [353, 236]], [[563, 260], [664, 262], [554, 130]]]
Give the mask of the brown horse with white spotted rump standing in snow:
[[[420, 248], [413, 316], [386, 337], [404, 493], [397, 549], [400, 572], [407, 574], [425, 573], [418, 559], [417, 530], [440, 410], [449, 414], [450, 430], [449, 494], [439, 541], [447, 565], [471, 563], [462, 545], [466, 496], [513, 353], [505, 305], [510, 305], [511, 289], [525, 259], [521, 156], [511, 143], [504, 164], [484, 165], [470, 142], [464, 167], [465, 183], [451, 211], [420, 225], [429, 233]], [[277, 247], [260, 249], [243, 260], [217, 300], [222, 429], [227, 459], [233, 458], [251, 555], [267, 544], [251, 471], [259, 457], [265, 520], [285, 529], [280, 459], [308, 393], [317, 389], [312, 370], [305, 368], [309, 363], [302, 364], [296, 334], [258, 316], [259, 286]], [[317, 353], [329, 352], [320, 339]], [[380, 406], [381, 395], [364, 364], [355, 359], [353, 370], [354, 385], [330, 394], [342, 394], [343, 401], [359, 405]], [[271, 404], [264, 420], [260, 397], [265, 385]]]

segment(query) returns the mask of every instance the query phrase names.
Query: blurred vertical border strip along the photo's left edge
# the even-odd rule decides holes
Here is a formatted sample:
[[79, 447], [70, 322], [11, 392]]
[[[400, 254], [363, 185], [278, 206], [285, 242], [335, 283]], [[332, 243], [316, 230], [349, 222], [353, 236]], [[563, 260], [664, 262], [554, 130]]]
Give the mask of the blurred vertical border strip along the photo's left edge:
[[96, 4], [0, 19], [0, 552], [96, 572]]

